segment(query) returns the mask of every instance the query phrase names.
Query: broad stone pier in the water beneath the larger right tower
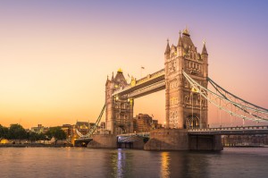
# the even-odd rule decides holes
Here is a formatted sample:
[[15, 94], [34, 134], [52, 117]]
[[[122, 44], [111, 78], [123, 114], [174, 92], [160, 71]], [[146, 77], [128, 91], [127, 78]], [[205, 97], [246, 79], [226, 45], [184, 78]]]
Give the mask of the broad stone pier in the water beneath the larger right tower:
[[145, 150], [222, 150], [221, 136], [188, 135], [186, 129], [157, 129], [150, 132]]

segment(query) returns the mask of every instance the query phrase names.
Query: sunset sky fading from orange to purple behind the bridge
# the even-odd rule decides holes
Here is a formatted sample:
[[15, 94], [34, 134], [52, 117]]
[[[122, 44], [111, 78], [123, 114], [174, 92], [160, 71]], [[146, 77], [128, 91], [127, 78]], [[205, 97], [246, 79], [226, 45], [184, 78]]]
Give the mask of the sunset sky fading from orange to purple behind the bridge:
[[[199, 52], [206, 41], [209, 76], [267, 108], [267, 17], [254, 0], [1, 1], [0, 124], [95, 122], [107, 75], [162, 69], [166, 39], [177, 44], [186, 25]], [[136, 99], [134, 112], [162, 123], [164, 91]]]

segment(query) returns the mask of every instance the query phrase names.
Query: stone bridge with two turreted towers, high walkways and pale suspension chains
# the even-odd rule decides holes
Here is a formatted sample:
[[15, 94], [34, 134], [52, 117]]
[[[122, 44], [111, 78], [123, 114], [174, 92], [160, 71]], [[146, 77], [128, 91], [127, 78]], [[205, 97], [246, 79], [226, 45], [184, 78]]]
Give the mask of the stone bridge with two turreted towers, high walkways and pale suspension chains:
[[[105, 123], [111, 134], [121, 141], [140, 140], [122, 134], [133, 133], [134, 100], [159, 90], [165, 90], [165, 129], [150, 132], [145, 148], [154, 149], [222, 149], [221, 134], [249, 133], [257, 129], [208, 127], [208, 103], [222, 112], [243, 121], [256, 123], [268, 121], [268, 110], [251, 104], [223, 89], [208, 77], [208, 53], [205, 43], [199, 53], [190, 38], [188, 30], [180, 33], [178, 44], [170, 47], [169, 41], [164, 52], [164, 68], [128, 83], [121, 69], [107, 77], [105, 83]], [[212, 89], [208, 89], [211, 84]], [[245, 132], [246, 131], [246, 132]], [[262, 132], [266, 133], [267, 128]], [[196, 135], [193, 137], [192, 135]], [[210, 135], [208, 137], [208, 135]], [[197, 139], [200, 136], [199, 139]], [[131, 139], [132, 138], [132, 139]], [[109, 139], [110, 140], [110, 139]], [[198, 141], [197, 141], [198, 140]], [[118, 141], [118, 140], [117, 140]], [[198, 144], [197, 144], [197, 143]], [[197, 147], [198, 146], [198, 147]]]

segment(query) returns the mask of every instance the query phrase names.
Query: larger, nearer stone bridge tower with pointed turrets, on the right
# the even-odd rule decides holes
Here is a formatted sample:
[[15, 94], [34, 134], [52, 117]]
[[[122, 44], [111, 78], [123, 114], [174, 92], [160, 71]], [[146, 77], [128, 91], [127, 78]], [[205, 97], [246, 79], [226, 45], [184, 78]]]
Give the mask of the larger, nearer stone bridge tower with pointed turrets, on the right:
[[207, 101], [184, 79], [182, 71], [207, 88], [208, 54], [205, 43], [200, 55], [188, 29], [183, 30], [178, 45], [164, 52], [166, 128], [205, 128]]

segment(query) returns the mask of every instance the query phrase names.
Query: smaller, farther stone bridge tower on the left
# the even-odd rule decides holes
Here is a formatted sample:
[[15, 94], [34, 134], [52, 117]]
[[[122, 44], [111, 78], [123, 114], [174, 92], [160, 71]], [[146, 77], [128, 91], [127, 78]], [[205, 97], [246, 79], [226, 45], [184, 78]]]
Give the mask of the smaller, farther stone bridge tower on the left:
[[133, 99], [113, 96], [115, 90], [123, 89], [127, 85], [121, 69], [111, 80], [107, 78], [105, 84], [105, 123], [106, 129], [112, 134], [133, 132]]

